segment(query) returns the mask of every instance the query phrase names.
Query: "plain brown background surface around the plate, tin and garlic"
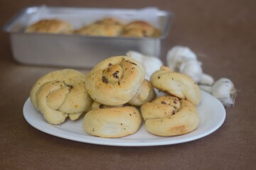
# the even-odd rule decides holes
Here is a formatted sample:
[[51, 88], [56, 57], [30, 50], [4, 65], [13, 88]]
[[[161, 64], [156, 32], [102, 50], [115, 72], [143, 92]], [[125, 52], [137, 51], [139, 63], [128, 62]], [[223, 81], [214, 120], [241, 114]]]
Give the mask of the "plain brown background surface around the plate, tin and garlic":
[[0, 33], [0, 169], [256, 169], [256, 1], [0, 1], [0, 26], [26, 6], [143, 8], [173, 11], [162, 59], [174, 45], [196, 52], [204, 72], [239, 89], [235, 107], [213, 134], [178, 145], [110, 147], [74, 142], [36, 130], [23, 118], [33, 83], [54, 67], [16, 63]]

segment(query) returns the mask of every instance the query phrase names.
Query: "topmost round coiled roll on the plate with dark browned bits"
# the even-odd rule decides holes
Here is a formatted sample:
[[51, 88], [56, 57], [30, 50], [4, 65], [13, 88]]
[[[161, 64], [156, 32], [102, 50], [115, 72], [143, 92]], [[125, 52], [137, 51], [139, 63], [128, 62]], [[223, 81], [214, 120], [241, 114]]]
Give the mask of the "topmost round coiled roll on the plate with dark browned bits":
[[93, 100], [107, 106], [128, 103], [139, 91], [145, 73], [131, 57], [110, 57], [97, 64], [87, 76], [86, 89]]

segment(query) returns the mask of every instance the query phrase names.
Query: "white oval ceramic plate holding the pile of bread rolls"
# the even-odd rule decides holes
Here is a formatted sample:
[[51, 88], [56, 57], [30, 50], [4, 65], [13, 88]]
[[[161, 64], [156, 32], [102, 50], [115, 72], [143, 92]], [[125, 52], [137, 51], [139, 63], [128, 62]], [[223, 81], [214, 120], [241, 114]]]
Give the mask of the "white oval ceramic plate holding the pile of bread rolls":
[[201, 123], [193, 132], [186, 135], [174, 137], [159, 137], [151, 135], [146, 131], [144, 125], [133, 135], [127, 137], [108, 139], [88, 135], [82, 130], [82, 119], [77, 121], [67, 120], [61, 125], [50, 125], [44, 120], [41, 113], [33, 107], [30, 98], [26, 100], [23, 106], [23, 115], [26, 121], [34, 128], [46, 132], [50, 135], [62, 137], [68, 140], [92, 143], [97, 145], [113, 146], [156, 146], [173, 145], [182, 142], [189, 142], [205, 137], [214, 132], [223, 124], [225, 120], [225, 108], [222, 103], [210, 94], [201, 91], [202, 101], [198, 106]]

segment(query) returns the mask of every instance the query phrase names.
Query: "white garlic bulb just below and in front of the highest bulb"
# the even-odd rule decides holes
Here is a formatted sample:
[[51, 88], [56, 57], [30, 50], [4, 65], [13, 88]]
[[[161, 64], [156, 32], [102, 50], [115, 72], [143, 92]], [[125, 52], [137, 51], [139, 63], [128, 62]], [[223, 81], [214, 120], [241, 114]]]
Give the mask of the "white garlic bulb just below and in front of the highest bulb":
[[181, 63], [179, 69], [181, 74], [191, 77], [196, 83], [201, 81], [201, 75], [203, 74], [201, 62], [198, 62], [197, 60], [186, 60]]

